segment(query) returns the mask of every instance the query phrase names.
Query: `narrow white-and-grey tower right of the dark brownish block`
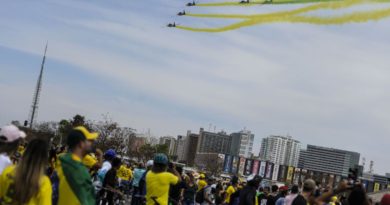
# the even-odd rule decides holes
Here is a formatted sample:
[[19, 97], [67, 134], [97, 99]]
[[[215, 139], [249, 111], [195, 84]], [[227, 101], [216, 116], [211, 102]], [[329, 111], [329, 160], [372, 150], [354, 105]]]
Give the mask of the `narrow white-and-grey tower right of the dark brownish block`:
[[249, 158], [252, 156], [255, 135], [248, 130], [232, 133], [231, 154]]

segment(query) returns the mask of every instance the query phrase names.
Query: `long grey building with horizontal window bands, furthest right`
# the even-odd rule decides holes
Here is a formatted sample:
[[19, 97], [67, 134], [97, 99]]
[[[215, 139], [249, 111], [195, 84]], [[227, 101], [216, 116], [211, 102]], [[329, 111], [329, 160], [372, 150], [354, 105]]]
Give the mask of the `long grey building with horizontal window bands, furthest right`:
[[340, 149], [307, 145], [306, 150], [301, 150], [299, 168], [348, 176], [350, 168], [359, 166], [360, 154]]

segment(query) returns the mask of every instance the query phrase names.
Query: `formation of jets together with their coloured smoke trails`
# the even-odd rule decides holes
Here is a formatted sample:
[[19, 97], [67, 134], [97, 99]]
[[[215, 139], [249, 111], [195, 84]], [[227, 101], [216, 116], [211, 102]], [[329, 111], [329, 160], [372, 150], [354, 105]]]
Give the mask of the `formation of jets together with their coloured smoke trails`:
[[[231, 19], [237, 22], [220, 27], [200, 28], [190, 25], [169, 23], [168, 27], [194, 32], [224, 32], [243, 27], [269, 23], [307, 23], [316, 25], [340, 25], [347, 23], [363, 23], [378, 21], [390, 17], [390, 0], [241, 0], [237, 2], [210, 2], [198, 3], [195, 1], [186, 4], [191, 12], [183, 10], [177, 13], [182, 18]], [[261, 6], [280, 4], [305, 4], [300, 8], [259, 14], [223, 14], [223, 13], [196, 13], [196, 7], [227, 7], [227, 6]], [[377, 5], [377, 8], [368, 6]], [[365, 6], [367, 8], [365, 8]], [[361, 8], [365, 9], [361, 9]], [[360, 9], [356, 9], [360, 8]], [[262, 9], [259, 7], [259, 9]], [[321, 16], [313, 15], [320, 11], [335, 11], [341, 14]]]

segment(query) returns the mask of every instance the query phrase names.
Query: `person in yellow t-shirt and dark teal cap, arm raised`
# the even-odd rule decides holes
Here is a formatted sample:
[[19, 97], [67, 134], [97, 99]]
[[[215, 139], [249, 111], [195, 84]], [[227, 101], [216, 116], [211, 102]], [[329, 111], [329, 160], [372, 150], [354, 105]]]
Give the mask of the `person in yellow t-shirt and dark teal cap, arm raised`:
[[180, 182], [181, 176], [173, 168], [173, 172], [167, 172], [168, 157], [165, 154], [156, 154], [153, 160], [152, 170], [146, 174], [146, 205], [168, 205], [170, 185]]

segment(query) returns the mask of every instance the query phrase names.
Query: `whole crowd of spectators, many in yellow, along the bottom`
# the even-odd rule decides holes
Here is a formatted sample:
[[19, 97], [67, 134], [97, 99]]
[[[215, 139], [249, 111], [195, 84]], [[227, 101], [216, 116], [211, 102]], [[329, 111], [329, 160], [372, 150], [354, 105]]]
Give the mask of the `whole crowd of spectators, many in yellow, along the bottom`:
[[[162, 153], [130, 164], [113, 149], [95, 149], [99, 134], [82, 126], [61, 147], [25, 137], [13, 125], [0, 130], [0, 205], [374, 205], [358, 180], [263, 187], [258, 175], [223, 181], [184, 172]], [[390, 195], [377, 204], [390, 205]]]

